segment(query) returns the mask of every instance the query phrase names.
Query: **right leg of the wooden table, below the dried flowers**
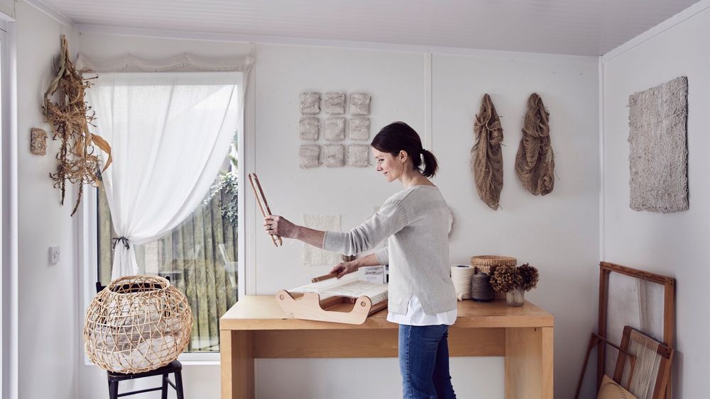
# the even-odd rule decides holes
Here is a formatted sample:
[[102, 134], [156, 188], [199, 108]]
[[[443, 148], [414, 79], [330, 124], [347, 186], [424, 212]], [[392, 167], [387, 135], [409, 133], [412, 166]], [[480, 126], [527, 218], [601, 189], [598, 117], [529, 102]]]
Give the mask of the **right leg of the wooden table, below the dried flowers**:
[[552, 327], [506, 329], [506, 399], [552, 399]]

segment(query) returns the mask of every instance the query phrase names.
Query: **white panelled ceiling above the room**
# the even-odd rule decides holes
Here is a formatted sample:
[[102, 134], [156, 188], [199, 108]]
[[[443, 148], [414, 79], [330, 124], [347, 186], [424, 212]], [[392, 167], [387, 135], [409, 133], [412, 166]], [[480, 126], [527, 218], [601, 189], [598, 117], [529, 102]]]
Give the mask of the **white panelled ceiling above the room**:
[[75, 23], [603, 55], [697, 0], [29, 0]]

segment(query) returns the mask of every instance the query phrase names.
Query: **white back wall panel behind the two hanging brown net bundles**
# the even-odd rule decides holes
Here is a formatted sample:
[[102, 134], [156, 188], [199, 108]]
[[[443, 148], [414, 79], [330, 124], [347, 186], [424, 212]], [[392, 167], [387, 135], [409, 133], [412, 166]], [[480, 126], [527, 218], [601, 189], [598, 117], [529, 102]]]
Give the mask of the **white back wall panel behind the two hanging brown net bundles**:
[[[572, 398], [589, 332], [596, 325], [599, 255], [599, 130], [596, 57], [435, 55], [432, 65], [436, 183], [455, 217], [451, 261], [507, 254], [540, 269], [527, 297], [555, 315], [555, 396]], [[528, 96], [550, 112], [555, 190], [527, 193], [515, 155]], [[471, 184], [469, 150], [481, 97], [488, 93], [503, 124], [501, 209], [493, 212]], [[466, 397], [466, 395], [464, 395]]]

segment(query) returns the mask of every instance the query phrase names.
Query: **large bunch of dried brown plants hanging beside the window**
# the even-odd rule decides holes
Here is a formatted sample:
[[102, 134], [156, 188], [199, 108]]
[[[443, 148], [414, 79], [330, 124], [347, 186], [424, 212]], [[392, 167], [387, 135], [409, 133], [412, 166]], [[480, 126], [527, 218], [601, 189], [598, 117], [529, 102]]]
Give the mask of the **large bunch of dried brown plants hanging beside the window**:
[[[55, 181], [55, 188], [62, 191], [61, 204], [64, 205], [67, 181], [79, 184], [77, 201], [72, 210], [72, 216], [77, 213], [82, 201], [84, 184], [98, 186], [101, 173], [111, 164], [111, 146], [99, 135], [89, 133], [89, 124], [96, 114], [84, 100], [84, 91], [91, 86], [90, 79], [84, 78], [70, 60], [67, 38], [62, 35], [62, 51], [60, 53], [57, 76], [52, 80], [44, 95], [43, 113], [45, 120], [52, 125], [53, 140], [60, 138], [62, 145], [57, 159], [57, 172], [50, 173]], [[58, 102], [51, 97], [59, 91]], [[104, 168], [99, 171], [100, 159], [94, 153], [94, 145], [108, 154]]]

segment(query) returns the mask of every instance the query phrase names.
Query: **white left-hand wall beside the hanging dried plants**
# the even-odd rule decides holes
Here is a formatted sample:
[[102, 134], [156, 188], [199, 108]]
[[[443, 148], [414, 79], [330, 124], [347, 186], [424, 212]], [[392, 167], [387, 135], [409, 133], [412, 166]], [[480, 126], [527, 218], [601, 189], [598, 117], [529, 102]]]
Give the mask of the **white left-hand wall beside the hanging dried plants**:
[[[18, 109], [18, 328], [20, 398], [76, 398], [77, 303], [75, 232], [70, 213], [48, 174], [56, 169], [59, 142], [48, 141], [47, 155], [30, 153], [30, 128], [44, 128], [43, 94], [56, 73], [60, 34], [76, 45], [72, 26], [16, 4]], [[61, 247], [61, 261], [50, 265], [48, 247]]]

